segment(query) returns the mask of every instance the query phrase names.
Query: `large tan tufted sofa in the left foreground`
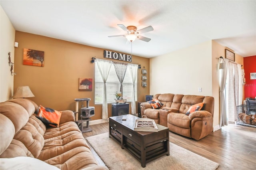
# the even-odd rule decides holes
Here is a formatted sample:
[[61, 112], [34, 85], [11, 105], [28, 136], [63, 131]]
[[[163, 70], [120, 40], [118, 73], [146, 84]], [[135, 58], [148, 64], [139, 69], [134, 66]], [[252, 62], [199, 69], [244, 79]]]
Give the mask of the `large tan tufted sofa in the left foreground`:
[[47, 128], [35, 116], [37, 112], [38, 106], [28, 99], [0, 103], [1, 170], [108, 169], [98, 165], [72, 111], [62, 111], [56, 128]]

